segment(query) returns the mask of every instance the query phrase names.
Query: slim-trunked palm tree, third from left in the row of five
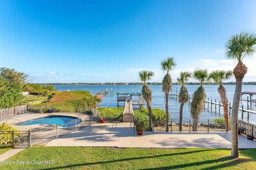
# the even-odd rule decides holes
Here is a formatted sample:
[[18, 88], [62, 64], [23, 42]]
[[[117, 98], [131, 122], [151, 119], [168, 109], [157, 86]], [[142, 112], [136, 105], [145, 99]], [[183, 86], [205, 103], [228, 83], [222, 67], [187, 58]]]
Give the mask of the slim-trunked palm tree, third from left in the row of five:
[[179, 123], [179, 129], [182, 131], [182, 112], [183, 112], [183, 106], [184, 103], [188, 102], [188, 90], [184, 86], [185, 82], [188, 82], [189, 78], [191, 77], [191, 72], [189, 71], [181, 71], [180, 76], [177, 78], [177, 81], [179, 84], [181, 84], [180, 93], [179, 93], [179, 103], [180, 103], [180, 123]]

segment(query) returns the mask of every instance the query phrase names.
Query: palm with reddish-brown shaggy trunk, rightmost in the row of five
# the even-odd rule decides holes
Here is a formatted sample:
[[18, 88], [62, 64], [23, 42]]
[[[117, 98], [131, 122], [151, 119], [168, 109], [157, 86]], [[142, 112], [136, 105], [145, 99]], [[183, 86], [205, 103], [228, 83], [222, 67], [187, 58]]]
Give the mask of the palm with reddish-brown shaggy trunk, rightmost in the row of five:
[[216, 70], [216, 71], [212, 71], [209, 75], [209, 78], [212, 78], [212, 80], [216, 84], [220, 84], [220, 86], [218, 88], [218, 92], [220, 94], [221, 103], [222, 103], [223, 109], [224, 109], [224, 117], [225, 117], [227, 129], [229, 129], [229, 127], [228, 127], [228, 98], [227, 98], [226, 88], [222, 85], [222, 82], [230, 79], [232, 77], [232, 74], [233, 74], [233, 72], [231, 70], [228, 70], [228, 71]]

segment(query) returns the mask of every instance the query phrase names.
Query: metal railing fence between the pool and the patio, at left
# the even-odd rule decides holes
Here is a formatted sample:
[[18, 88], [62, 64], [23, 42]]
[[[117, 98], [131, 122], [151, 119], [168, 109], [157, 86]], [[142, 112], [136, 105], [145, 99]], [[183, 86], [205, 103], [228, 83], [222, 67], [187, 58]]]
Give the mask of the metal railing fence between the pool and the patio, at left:
[[90, 126], [98, 121], [98, 115], [79, 115], [78, 119], [30, 131], [0, 131], [0, 146], [26, 148], [58, 139], [63, 135]]

